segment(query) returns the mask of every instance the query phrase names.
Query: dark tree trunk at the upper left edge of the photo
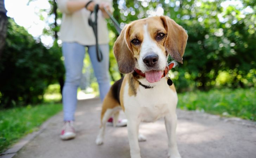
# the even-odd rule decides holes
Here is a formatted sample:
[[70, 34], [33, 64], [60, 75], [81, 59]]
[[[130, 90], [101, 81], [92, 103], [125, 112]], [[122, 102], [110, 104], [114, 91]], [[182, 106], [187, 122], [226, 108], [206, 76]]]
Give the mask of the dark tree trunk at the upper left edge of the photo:
[[0, 58], [5, 46], [7, 17], [4, 0], [0, 0]]

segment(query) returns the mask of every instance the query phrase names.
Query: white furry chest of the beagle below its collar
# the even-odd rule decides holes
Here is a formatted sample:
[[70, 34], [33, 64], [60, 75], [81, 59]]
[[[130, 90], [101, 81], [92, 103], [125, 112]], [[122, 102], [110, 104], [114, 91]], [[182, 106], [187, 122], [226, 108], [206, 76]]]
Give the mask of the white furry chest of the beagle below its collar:
[[140, 86], [136, 96], [124, 98], [124, 106], [141, 121], [152, 122], [175, 110], [177, 101], [177, 93], [169, 88], [166, 79], [162, 79], [154, 88]]

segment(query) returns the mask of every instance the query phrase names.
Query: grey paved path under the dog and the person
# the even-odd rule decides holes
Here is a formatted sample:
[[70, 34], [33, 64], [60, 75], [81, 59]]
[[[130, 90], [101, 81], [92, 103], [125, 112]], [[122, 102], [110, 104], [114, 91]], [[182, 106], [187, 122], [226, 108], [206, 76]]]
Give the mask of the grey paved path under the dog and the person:
[[[107, 126], [104, 144], [95, 144], [100, 111], [100, 100], [80, 100], [76, 112], [76, 139], [59, 139], [63, 125], [63, 113], [59, 113], [15, 158], [129, 158], [126, 127]], [[256, 158], [255, 122], [191, 111], [178, 110], [177, 113], [178, 148], [183, 158]], [[141, 124], [140, 132], [147, 137], [147, 141], [140, 142], [142, 158], [167, 158], [163, 119]]]

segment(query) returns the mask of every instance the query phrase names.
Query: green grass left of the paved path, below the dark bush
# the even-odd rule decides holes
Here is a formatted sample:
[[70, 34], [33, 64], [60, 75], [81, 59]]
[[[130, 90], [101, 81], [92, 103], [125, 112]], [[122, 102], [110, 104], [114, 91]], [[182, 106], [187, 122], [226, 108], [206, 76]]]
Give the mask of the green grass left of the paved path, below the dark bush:
[[0, 111], [0, 153], [26, 134], [38, 130], [48, 118], [62, 110], [61, 104], [43, 104]]

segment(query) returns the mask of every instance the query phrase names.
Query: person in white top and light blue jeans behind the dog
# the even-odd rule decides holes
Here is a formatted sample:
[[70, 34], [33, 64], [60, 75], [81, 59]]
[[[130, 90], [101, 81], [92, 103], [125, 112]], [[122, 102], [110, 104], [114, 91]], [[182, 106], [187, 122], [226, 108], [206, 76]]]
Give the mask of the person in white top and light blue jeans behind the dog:
[[[96, 54], [96, 40], [88, 19], [95, 5], [98, 11], [98, 44], [103, 60], [99, 62]], [[107, 22], [108, 14], [104, 7], [111, 12], [112, 0], [57, 0], [57, 6], [62, 12], [59, 39], [62, 40], [62, 54], [65, 65], [65, 84], [63, 87], [64, 126], [60, 134], [63, 140], [75, 138], [73, 127], [74, 113], [77, 105], [77, 88], [82, 77], [85, 47], [94, 69], [100, 89], [100, 98], [103, 101], [110, 88], [109, 78], [109, 37]]]

